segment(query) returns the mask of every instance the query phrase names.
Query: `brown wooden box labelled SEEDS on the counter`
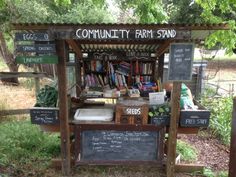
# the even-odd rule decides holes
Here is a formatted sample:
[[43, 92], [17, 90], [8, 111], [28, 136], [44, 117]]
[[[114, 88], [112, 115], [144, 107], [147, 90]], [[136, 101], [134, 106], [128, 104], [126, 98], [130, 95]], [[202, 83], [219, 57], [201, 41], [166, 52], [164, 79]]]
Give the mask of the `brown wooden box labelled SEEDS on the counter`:
[[134, 100], [117, 103], [115, 122], [117, 124], [148, 124], [148, 105]]

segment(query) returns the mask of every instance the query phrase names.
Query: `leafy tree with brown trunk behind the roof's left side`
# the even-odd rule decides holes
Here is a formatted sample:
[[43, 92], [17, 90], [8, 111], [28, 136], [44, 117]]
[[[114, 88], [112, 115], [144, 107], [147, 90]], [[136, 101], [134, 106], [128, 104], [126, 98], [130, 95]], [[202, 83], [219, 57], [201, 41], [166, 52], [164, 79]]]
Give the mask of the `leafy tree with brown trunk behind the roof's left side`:
[[[0, 57], [10, 71], [18, 67], [10, 50], [11, 23], [102, 23], [112, 22], [104, 0], [0, 0]], [[5, 33], [5, 34], [3, 34]], [[11, 36], [11, 35], [10, 35]], [[17, 79], [11, 80], [18, 83]]]

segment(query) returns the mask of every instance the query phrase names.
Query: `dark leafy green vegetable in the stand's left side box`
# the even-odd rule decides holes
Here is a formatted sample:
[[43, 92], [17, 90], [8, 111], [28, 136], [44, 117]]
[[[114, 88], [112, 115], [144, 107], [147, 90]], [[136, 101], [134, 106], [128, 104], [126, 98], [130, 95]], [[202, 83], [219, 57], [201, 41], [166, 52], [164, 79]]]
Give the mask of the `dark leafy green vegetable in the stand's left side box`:
[[36, 100], [36, 107], [56, 107], [58, 98], [58, 91], [49, 85], [41, 88]]

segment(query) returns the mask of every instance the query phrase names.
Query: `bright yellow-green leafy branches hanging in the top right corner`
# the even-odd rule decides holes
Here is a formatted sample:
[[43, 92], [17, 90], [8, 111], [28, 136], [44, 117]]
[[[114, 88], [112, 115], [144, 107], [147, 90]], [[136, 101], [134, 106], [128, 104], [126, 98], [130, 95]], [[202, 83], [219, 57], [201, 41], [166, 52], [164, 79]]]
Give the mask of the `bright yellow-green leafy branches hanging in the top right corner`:
[[226, 48], [228, 54], [236, 48], [236, 0], [196, 0], [201, 5], [203, 12], [201, 16], [206, 23], [228, 23], [230, 30], [217, 31], [207, 40], [208, 47], [214, 47], [220, 43]]

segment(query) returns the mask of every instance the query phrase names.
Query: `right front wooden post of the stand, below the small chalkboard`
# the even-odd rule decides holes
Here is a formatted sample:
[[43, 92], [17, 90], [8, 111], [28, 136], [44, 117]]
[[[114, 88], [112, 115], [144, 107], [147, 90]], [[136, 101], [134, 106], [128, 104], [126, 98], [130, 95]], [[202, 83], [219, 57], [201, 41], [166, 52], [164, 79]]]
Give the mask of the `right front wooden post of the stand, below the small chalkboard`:
[[171, 95], [171, 119], [168, 136], [168, 151], [167, 151], [167, 176], [174, 177], [175, 175], [175, 156], [177, 144], [177, 130], [180, 115], [180, 92], [181, 82], [174, 82]]

